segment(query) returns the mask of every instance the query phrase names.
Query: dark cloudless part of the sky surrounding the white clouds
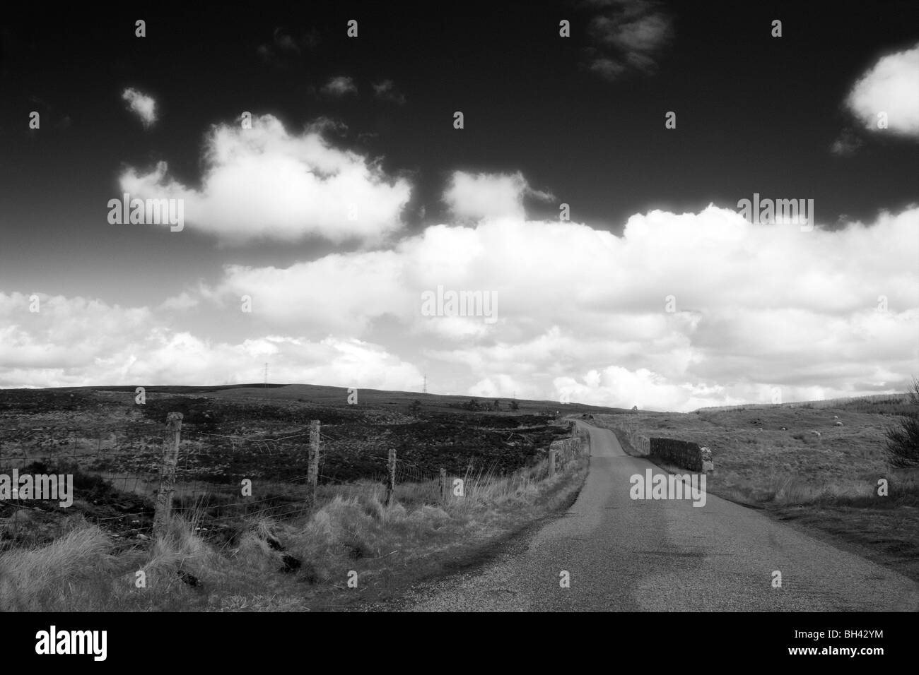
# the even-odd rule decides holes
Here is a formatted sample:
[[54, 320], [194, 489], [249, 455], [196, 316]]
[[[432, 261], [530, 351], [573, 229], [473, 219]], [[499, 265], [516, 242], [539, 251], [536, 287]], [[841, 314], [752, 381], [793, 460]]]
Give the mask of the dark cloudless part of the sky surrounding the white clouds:
[[[881, 51], [916, 37], [915, 2], [675, 3], [673, 35], [652, 72], [607, 82], [585, 67], [591, 3], [255, 3], [165, 9], [71, 6], [10, 9], [0, 62], [0, 286], [99, 294], [119, 300], [117, 279], [171, 285], [163, 256], [219, 264], [287, 264], [327, 251], [323, 242], [265, 244], [213, 253], [210, 240], [163, 231], [113, 230], [108, 198], [125, 165], [168, 162], [190, 186], [210, 125], [243, 110], [271, 113], [291, 129], [341, 119], [339, 145], [379, 155], [408, 172], [405, 219], [419, 228], [442, 213], [448, 172], [521, 171], [557, 197], [528, 205], [534, 217], [621, 231], [649, 208], [731, 206], [754, 192], [811, 197], [818, 219], [871, 219], [915, 200], [914, 142], [872, 140], [857, 161], [829, 152], [852, 121], [842, 101]], [[143, 18], [147, 37], [134, 37]], [[357, 39], [346, 21], [358, 20]], [[572, 22], [561, 39], [558, 23]], [[783, 21], [783, 37], [770, 21]], [[278, 49], [289, 36], [299, 53]], [[309, 36], [309, 39], [304, 39]], [[259, 47], [270, 49], [268, 59]], [[345, 75], [360, 95], [315, 91]], [[919, 75], [917, 75], [919, 76]], [[371, 96], [391, 79], [403, 106]], [[154, 96], [160, 120], [145, 131], [119, 98], [128, 86]], [[42, 115], [28, 129], [28, 112]], [[465, 129], [452, 128], [461, 110]], [[664, 114], [677, 129], [664, 129]], [[130, 243], [129, 243], [130, 241]], [[80, 275], [64, 274], [76, 261]], [[164, 288], [165, 286], [165, 288]], [[123, 299], [123, 298], [122, 298]]]

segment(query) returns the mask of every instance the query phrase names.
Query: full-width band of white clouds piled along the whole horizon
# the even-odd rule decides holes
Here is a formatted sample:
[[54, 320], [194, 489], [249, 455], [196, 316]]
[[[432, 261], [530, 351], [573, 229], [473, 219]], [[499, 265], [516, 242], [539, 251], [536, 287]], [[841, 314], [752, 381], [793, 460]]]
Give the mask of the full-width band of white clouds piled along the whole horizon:
[[[919, 372], [919, 207], [828, 230], [818, 206], [812, 231], [652, 210], [617, 236], [527, 219], [517, 174], [471, 178], [448, 201], [472, 219], [378, 250], [227, 265], [153, 309], [43, 297], [35, 314], [0, 293], [0, 386], [257, 381], [270, 361], [278, 381], [416, 390], [424, 370], [443, 393], [687, 411], [776, 388], [902, 391]], [[439, 287], [494, 294], [495, 321], [423, 311]], [[245, 295], [253, 312], [234, 321]]]

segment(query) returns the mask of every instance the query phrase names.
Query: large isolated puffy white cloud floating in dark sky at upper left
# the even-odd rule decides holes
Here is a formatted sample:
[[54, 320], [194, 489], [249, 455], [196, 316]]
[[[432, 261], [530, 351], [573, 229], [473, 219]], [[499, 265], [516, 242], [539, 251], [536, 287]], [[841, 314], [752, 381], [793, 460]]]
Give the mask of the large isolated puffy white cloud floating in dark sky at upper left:
[[169, 177], [165, 163], [146, 173], [128, 168], [120, 185], [131, 197], [184, 199], [187, 230], [230, 243], [310, 235], [379, 242], [403, 227], [408, 181], [333, 147], [320, 130], [289, 133], [271, 115], [255, 116], [252, 129], [219, 124], [203, 159], [199, 190]]

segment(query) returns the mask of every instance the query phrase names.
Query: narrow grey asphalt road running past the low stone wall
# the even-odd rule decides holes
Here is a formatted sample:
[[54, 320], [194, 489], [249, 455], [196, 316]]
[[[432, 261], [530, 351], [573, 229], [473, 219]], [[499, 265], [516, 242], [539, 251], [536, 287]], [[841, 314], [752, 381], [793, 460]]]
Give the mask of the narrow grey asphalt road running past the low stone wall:
[[664, 472], [626, 455], [612, 432], [578, 423], [591, 434], [591, 465], [568, 512], [475, 573], [415, 589], [404, 609], [919, 610], [913, 580], [762, 513], [711, 495], [701, 507], [630, 499], [632, 475]]

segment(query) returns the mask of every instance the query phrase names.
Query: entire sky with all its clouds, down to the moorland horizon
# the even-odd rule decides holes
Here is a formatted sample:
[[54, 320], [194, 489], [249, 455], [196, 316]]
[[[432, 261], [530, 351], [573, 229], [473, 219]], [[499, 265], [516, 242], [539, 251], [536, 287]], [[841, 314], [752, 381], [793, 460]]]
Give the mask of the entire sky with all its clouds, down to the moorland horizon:
[[[902, 390], [917, 45], [915, 0], [6, 6], [0, 386], [270, 361], [668, 410]], [[109, 223], [124, 185], [199, 210], [181, 234]], [[746, 223], [754, 193], [812, 199], [817, 229]], [[498, 315], [425, 313], [441, 287]]]

